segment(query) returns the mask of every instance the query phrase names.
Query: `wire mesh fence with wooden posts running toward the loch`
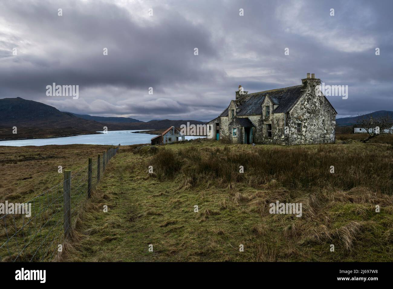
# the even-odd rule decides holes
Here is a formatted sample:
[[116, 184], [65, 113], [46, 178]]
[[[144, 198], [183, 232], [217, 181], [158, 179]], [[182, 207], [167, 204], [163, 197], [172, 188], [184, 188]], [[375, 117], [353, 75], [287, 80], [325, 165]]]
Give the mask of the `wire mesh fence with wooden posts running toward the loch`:
[[6, 201], [6, 212], [0, 214], [0, 261], [53, 261], [119, 147], [89, 158], [88, 166], [75, 173], [65, 170], [63, 182], [26, 203]]

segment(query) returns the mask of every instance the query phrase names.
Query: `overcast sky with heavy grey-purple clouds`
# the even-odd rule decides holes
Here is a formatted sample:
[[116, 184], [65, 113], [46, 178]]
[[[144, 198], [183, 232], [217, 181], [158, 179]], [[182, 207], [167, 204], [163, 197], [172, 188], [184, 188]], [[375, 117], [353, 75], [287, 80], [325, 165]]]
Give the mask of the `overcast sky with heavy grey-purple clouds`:
[[[0, 98], [208, 121], [239, 85], [289, 87], [309, 72], [348, 85], [347, 99], [328, 97], [338, 117], [393, 110], [392, 11], [391, 0], [1, 0]], [[79, 98], [46, 96], [52, 83], [79, 85]]]

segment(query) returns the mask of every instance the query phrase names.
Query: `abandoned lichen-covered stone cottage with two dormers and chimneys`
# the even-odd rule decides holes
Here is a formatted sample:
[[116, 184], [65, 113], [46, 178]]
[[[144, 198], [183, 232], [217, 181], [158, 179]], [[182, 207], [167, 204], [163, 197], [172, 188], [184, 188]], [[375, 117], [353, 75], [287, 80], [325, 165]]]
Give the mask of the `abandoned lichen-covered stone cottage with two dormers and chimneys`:
[[317, 93], [321, 79], [308, 73], [301, 82], [251, 94], [239, 85], [230, 105], [208, 122], [213, 139], [233, 144], [333, 143], [337, 112]]

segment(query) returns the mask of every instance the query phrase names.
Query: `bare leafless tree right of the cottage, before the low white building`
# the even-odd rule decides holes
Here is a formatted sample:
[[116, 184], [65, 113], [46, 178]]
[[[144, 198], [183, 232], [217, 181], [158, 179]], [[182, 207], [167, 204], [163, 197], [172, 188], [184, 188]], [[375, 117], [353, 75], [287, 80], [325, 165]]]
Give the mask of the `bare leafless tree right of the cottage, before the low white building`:
[[386, 116], [373, 117], [373, 114], [362, 115], [358, 117], [357, 127], [364, 129], [369, 135], [362, 142], [367, 142], [375, 136], [392, 132], [393, 120], [389, 114]]

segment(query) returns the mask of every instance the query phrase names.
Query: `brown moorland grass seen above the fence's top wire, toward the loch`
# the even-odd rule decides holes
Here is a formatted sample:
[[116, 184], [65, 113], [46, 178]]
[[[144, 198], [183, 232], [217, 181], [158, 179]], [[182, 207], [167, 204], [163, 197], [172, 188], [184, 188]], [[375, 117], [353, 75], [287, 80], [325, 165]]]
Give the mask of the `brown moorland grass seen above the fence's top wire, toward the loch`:
[[[1, 144], [1, 143], [0, 143]], [[62, 169], [77, 171], [88, 158], [107, 151], [110, 145], [0, 146], [0, 202], [28, 201], [63, 181]]]

